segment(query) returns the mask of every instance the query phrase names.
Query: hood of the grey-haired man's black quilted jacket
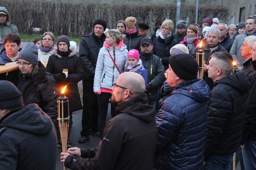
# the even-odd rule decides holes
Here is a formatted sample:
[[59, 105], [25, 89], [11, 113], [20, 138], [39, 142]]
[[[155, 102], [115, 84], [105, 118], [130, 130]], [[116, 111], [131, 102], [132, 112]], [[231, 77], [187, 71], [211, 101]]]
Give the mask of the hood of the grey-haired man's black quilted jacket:
[[242, 95], [248, 92], [249, 87], [248, 77], [241, 70], [238, 70], [237, 72], [220, 80], [216, 80], [214, 86], [217, 86], [218, 84], [227, 84], [228, 86], [238, 90]]

